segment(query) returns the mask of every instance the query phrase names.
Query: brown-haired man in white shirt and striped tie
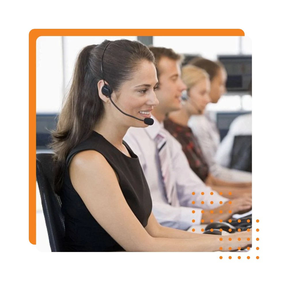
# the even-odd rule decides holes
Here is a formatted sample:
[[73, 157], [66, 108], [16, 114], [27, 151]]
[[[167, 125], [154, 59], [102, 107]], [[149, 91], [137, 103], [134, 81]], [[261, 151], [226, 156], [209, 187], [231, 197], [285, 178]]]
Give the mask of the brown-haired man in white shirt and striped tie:
[[[181, 80], [181, 56], [167, 48], [150, 47], [150, 50], [156, 57], [159, 81], [156, 90], [159, 104], [151, 112], [154, 124], [129, 128], [124, 141], [139, 157], [157, 220], [163, 226], [187, 230], [193, 225], [230, 219], [233, 213], [251, 208], [250, 197], [233, 199], [231, 203], [206, 186], [190, 168], [181, 144], [163, 128], [166, 114], [181, 107], [181, 94], [187, 87]], [[156, 142], [159, 137], [160, 145]], [[163, 149], [168, 153], [166, 172], [161, 171], [164, 164], [160, 164]], [[174, 187], [170, 192], [165, 181]]]

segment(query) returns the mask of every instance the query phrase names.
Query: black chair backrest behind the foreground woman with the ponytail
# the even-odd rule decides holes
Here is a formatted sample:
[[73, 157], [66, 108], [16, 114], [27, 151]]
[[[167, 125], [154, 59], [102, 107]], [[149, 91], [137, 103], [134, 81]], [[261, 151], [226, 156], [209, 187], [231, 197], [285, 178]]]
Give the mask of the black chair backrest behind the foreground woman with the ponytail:
[[61, 212], [60, 197], [53, 190], [52, 157], [52, 153], [36, 154], [36, 179], [39, 186], [51, 253], [62, 253], [65, 222]]

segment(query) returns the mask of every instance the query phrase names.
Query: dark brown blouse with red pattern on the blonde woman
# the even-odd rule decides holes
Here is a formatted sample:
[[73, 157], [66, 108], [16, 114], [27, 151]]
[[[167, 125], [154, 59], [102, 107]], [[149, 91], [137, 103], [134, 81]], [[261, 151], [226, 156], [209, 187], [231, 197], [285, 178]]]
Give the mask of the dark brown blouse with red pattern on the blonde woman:
[[164, 120], [164, 128], [182, 145], [190, 168], [205, 182], [209, 174], [209, 166], [190, 127], [184, 127], [166, 119]]

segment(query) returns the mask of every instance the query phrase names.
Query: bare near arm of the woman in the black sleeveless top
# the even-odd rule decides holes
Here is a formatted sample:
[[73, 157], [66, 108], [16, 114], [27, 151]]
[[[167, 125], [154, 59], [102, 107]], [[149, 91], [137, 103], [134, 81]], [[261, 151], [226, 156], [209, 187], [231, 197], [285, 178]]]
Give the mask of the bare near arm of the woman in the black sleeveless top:
[[[240, 232], [241, 241], [237, 240], [238, 235], [224, 235], [222, 241], [218, 236], [210, 235], [192, 239], [168, 238], [169, 233], [161, 236], [157, 234], [157, 228], [148, 227], [150, 234], [128, 206], [113, 169], [96, 151], [76, 154], [69, 166], [69, 175], [92, 216], [128, 252], [213, 252], [218, 251], [219, 247], [229, 251], [229, 247], [234, 250], [252, 243], [251, 232]], [[190, 232], [187, 233], [187, 237], [190, 237]], [[229, 241], [229, 237], [233, 240]]]

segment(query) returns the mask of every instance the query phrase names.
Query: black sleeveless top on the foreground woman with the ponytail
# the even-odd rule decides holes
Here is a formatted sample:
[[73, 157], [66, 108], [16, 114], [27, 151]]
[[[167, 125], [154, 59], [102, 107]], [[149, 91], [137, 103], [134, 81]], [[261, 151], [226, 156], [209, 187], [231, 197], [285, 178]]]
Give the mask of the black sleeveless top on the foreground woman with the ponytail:
[[[84, 150], [101, 153], [119, 177], [119, 185], [130, 209], [143, 227], [152, 211], [150, 190], [137, 155], [123, 141], [130, 157], [120, 152], [101, 134], [93, 131], [87, 140], [75, 147], [67, 157], [60, 198], [65, 217], [64, 253], [107, 253], [124, 249], [100, 226], [73, 188], [68, 166], [72, 157]], [[97, 171], [95, 171], [97, 173]], [[109, 207], [107, 207], [109, 209]]]

